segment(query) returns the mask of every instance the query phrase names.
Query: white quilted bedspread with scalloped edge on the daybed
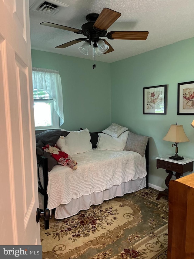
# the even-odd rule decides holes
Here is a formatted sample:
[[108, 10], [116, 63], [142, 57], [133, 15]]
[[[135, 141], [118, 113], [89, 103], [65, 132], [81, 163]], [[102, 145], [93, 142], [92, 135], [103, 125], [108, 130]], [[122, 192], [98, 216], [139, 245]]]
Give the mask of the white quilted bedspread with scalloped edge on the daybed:
[[132, 151], [95, 150], [73, 155], [78, 169], [56, 165], [49, 172], [48, 208], [146, 176], [146, 159]]

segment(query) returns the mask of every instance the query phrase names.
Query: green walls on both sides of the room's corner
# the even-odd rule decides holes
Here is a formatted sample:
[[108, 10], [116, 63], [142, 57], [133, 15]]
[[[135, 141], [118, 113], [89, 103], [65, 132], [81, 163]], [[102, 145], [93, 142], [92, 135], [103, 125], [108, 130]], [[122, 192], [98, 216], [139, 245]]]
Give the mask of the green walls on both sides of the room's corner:
[[[190, 142], [180, 143], [179, 155], [194, 158], [194, 116], [177, 115], [177, 83], [194, 80], [194, 38], [114, 63], [96, 62], [32, 50], [32, 66], [59, 70], [64, 117], [62, 128], [100, 131], [112, 122], [150, 136], [149, 182], [165, 188], [164, 169], [156, 156], [174, 155], [172, 142], [163, 141], [171, 124], [182, 124]], [[142, 113], [143, 87], [167, 84], [167, 114]]]

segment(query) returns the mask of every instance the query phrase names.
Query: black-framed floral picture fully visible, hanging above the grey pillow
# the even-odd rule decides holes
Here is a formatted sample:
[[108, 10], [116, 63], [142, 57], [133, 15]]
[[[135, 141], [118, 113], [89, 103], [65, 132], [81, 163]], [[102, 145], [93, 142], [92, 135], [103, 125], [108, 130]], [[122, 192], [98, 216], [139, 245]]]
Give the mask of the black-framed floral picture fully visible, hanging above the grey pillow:
[[166, 114], [167, 85], [143, 87], [143, 114]]

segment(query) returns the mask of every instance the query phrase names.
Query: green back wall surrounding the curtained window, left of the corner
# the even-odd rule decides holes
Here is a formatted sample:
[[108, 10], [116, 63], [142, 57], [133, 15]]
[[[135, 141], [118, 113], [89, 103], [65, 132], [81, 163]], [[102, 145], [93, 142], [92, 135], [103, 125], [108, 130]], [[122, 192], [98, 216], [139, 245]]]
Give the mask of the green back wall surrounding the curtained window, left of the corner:
[[59, 70], [67, 130], [101, 131], [110, 124], [110, 64], [32, 49], [32, 66]]

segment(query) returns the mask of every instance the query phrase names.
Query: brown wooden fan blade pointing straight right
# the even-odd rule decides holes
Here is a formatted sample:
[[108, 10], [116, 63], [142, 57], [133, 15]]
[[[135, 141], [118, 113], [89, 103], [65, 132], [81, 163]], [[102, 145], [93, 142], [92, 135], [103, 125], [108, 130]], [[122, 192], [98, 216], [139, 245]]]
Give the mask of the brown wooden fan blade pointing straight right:
[[146, 40], [149, 32], [108, 32], [108, 39]]

